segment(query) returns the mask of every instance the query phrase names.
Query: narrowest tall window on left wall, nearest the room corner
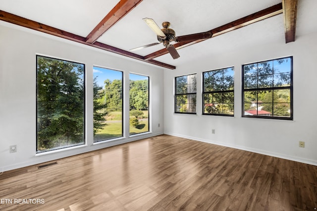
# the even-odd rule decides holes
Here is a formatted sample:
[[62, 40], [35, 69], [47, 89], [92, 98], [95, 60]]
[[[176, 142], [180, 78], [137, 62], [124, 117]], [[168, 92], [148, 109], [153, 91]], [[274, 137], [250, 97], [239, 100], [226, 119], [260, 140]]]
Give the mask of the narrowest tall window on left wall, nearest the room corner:
[[149, 77], [129, 74], [130, 78], [130, 135], [150, 131]]

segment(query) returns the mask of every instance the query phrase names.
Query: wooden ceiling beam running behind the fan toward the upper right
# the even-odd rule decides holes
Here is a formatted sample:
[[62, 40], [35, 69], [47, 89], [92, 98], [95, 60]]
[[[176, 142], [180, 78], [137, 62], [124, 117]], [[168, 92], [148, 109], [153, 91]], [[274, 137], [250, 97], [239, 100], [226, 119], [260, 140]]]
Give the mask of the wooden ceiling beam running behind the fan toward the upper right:
[[[211, 29], [208, 32], [212, 33], [212, 38], [236, 29], [239, 29], [241, 27], [250, 25], [252, 23], [264, 20], [266, 18], [281, 14], [283, 12], [283, 8], [282, 8], [282, 3], [278, 3], [274, 6], [268, 7], [266, 9], [263, 9], [259, 12], [253, 13], [251, 15], [245, 16], [243, 18], [240, 18], [238, 20], [232, 21], [230, 23], [227, 23], [223, 26], [217, 27], [215, 29]], [[199, 34], [199, 33], [198, 33]], [[183, 36], [184, 37], [184, 36]], [[201, 40], [197, 40], [197, 41], [192, 41], [192, 42], [178, 42], [176, 44], [174, 44], [176, 49], [180, 49], [186, 46], [189, 46], [191, 44], [197, 43], [197, 42], [202, 42], [205, 41], [207, 39], [201, 39]], [[177, 46], [177, 47], [176, 47]], [[161, 50], [158, 50], [154, 53], [151, 53], [149, 55], [146, 55], [144, 58], [145, 59], [154, 59], [158, 56], [164, 55], [168, 53], [167, 49], [163, 48]]]

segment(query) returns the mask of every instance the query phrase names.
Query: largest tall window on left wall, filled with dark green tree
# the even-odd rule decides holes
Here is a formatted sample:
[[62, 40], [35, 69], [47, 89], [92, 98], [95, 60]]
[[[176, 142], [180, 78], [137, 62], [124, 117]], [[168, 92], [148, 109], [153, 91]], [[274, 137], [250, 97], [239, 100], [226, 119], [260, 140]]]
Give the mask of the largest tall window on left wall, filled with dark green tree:
[[37, 56], [37, 153], [85, 142], [85, 65]]

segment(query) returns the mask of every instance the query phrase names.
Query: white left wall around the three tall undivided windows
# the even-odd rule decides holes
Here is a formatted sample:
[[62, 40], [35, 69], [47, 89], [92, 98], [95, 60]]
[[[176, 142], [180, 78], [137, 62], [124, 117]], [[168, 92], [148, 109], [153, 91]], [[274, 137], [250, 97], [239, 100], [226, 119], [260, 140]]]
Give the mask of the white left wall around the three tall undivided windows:
[[[36, 54], [86, 65], [87, 146], [41, 153], [36, 156]], [[150, 127], [148, 134], [129, 137], [129, 97], [125, 99], [125, 138], [93, 145], [93, 65], [124, 72], [124, 91], [129, 72], [150, 77]], [[0, 173], [54, 159], [105, 148], [163, 133], [163, 70], [79, 43], [0, 22]], [[160, 123], [160, 127], [158, 124]], [[9, 146], [17, 145], [17, 153]]]

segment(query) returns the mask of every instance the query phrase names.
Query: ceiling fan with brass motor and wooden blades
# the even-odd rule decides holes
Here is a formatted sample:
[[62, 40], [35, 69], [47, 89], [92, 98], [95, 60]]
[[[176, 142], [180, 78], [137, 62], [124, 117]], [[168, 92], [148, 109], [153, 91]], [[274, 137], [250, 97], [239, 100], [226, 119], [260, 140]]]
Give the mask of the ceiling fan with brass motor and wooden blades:
[[176, 51], [176, 48], [174, 45], [170, 44], [170, 42], [189, 42], [189, 41], [197, 41], [201, 39], [209, 39], [212, 37], [211, 31], [203, 32], [203, 33], [197, 33], [197, 34], [191, 34], [191, 35], [184, 35], [184, 36], [175, 36], [175, 31], [170, 29], [170, 23], [169, 22], [163, 22], [162, 26], [163, 28], [160, 29], [158, 24], [151, 19], [151, 18], [143, 18], [143, 20], [148, 24], [148, 26], [157, 34], [157, 38], [159, 42], [143, 45], [140, 47], [136, 47], [133, 49], [130, 49], [131, 51], [143, 49], [146, 47], [150, 47], [153, 45], [158, 45], [160, 43], [163, 43], [163, 46], [166, 47], [170, 55], [173, 57], [173, 59], [179, 58], [179, 54]]

